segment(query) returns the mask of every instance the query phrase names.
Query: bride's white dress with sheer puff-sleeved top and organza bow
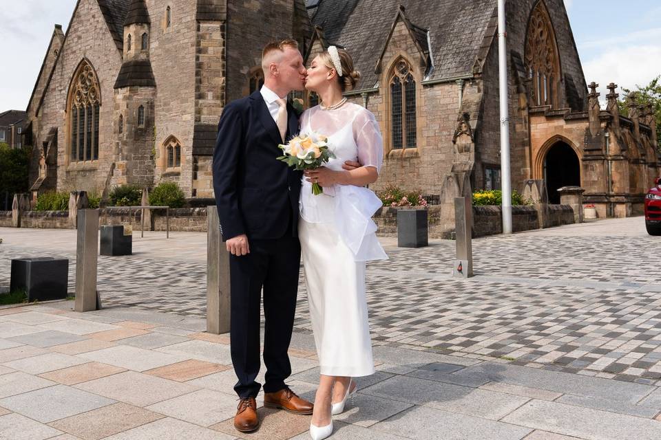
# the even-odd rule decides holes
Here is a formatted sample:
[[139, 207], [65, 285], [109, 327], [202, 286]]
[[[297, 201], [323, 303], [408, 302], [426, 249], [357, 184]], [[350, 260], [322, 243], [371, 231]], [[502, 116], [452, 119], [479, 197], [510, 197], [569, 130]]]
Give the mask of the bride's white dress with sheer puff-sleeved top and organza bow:
[[[342, 170], [347, 160], [380, 170], [384, 151], [379, 124], [364, 107], [313, 107], [303, 113], [302, 133], [328, 136], [335, 154], [325, 166]], [[300, 199], [303, 267], [322, 375], [374, 373], [365, 296], [365, 262], [388, 259], [375, 232], [381, 201], [368, 188], [335, 185], [313, 195], [303, 179]]]

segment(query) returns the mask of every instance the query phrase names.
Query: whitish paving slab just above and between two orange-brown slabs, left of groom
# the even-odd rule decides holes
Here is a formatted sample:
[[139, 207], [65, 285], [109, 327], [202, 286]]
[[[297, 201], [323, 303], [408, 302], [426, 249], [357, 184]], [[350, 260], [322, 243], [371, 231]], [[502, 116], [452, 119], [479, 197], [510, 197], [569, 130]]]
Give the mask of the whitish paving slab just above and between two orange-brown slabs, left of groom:
[[174, 364], [190, 358], [185, 354], [160, 353], [158, 351], [138, 349], [137, 347], [129, 347], [127, 345], [88, 351], [87, 353], [79, 354], [78, 357], [103, 364], [120, 366], [133, 371], [151, 370], [159, 366]]

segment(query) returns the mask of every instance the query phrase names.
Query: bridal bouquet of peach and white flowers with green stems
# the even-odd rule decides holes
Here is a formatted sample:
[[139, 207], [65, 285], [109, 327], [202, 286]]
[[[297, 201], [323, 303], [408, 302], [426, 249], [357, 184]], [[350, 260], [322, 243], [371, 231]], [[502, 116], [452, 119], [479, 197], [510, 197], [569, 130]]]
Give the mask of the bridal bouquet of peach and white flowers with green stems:
[[[301, 133], [286, 145], [278, 145], [284, 152], [284, 155], [277, 159], [298, 171], [319, 168], [319, 166], [322, 166], [335, 157], [333, 152], [328, 149], [327, 142], [328, 137], [319, 133]], [[312, 184], [312, 193], [319, 195], [322, 192], [324, 192], [324, 188], [314, 182]]]

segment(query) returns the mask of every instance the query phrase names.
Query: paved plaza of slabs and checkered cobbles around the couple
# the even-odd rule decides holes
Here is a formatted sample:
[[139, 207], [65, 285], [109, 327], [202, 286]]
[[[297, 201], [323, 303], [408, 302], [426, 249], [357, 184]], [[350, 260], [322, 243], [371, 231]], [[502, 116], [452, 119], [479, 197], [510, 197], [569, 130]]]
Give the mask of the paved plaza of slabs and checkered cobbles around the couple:
[[[68, 256], [75, 231], [0, 228], [10, 259]], [[0, 309], [0, 439], [306, 439], [309, 417], [261, 408], [233, 430], [227, 335], [204, 333], [206, 235], [147, 232], [99, 257], [105, 309]], [[452, 241], [368, 265], [377, 374], [334, 439], [661, 438], [661, 249], [642, 218], [473, 241], [476, 276], [450, 277]], [[291, 386], [319, 374], [304, 280]], [[263, 373], [263, 372], [262, 372]]]

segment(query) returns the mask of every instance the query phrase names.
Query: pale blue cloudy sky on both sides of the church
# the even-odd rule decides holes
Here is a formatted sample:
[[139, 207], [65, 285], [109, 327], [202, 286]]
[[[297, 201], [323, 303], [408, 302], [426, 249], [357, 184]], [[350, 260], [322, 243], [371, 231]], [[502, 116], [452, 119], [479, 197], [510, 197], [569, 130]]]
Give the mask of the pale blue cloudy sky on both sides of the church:
[[[53, 26], [66, 31], [75, 5], [76, 0], [0, 0], [0, 53], [11, 61], [0, 67], [0, 111], [28, 107]], [[661, 1], [565, 5], [585, 79], [600, 85], [602, 100], [611, 82], [633, 89], [661, 74]]]

